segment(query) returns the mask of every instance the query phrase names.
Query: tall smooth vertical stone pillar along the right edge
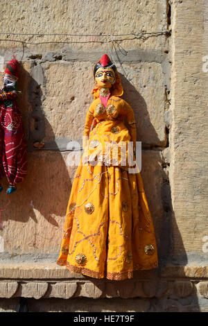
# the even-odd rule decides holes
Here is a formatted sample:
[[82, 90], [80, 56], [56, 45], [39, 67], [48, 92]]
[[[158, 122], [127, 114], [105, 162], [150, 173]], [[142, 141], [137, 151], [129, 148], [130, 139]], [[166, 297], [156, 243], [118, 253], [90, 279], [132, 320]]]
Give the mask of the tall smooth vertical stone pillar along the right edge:
[[191, 0], [173, 1], [172, 6], [173, 257], [183, 262], [189, 257], [193, 261], [193, 253], [197, 259], [203, 254], [204, 261], [207, 259], [202, 251], [202, 239], [207, 236], [208, 180], [207, 73], [202, 69], [207, 53], [206, 8], [207, 1]]

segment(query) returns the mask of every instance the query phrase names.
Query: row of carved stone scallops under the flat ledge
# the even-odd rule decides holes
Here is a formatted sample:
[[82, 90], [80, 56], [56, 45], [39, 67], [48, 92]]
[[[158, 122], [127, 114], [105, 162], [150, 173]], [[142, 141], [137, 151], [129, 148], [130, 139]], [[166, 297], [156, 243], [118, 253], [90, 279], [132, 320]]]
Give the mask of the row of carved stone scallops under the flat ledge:
[[132, 282], [81, 280], [1, 280], [0, 298], [208, 298], [208, 282], [143, 280]]

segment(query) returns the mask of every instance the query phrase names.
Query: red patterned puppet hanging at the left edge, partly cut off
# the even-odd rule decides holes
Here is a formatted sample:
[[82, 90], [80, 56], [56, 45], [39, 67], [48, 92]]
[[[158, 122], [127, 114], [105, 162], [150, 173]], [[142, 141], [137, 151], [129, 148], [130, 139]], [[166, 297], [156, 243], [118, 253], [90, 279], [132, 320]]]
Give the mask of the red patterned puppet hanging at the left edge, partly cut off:
[[[18, 61], [6, 65], [0, 89], [0, 179], [6, 173], [7, 194], [16, 190], [26, 176], [26, 137], [17, 104]], [[0, 184], [0, 192], [2, 191]]]

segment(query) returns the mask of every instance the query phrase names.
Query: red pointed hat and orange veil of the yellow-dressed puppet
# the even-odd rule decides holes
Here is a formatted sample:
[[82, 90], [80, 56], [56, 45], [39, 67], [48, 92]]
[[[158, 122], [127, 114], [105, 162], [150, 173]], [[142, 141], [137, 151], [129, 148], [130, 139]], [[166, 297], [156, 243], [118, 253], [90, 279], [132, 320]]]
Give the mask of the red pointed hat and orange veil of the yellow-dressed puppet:
[[[95, 71], [96, 69], [98, 69], [98, 65], [100, 65], [100, 67], [112, 67], [114, 66], [114, 68], [116, 68], [116, 66], [114, 65], [114, 63], [110, 60], [110, 58], [108, 57], [107, 54], [103, 54], [103, 56], [101, 57], [101, 59], [96, 63], [96, 65], [94, 66], [94, 75], [95, 75]], [[116, 69], [116, 82], [114, 83], [114, 85], [112, 85], [112, 95], [115, 96], [121, 96], [123, 95], [123, 87], [121, 84], [121, 77]], [[94, 95], [94, 99], [99, 97], [99, 89], [98, 88], [94, 88], [92, 91], [92, 94]]]

